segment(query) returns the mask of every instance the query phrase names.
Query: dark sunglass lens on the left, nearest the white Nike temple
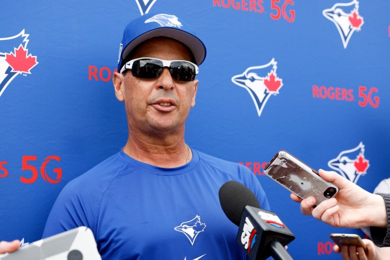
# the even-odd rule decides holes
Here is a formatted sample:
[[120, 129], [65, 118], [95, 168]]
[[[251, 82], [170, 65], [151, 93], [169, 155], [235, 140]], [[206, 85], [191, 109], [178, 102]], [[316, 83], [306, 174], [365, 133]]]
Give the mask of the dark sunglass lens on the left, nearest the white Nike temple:
[[162, 62], [155, 59], [141, 59], [133, 63], [131, 72], [134, 77], [143, 79], [155, 79], [160, 76]]

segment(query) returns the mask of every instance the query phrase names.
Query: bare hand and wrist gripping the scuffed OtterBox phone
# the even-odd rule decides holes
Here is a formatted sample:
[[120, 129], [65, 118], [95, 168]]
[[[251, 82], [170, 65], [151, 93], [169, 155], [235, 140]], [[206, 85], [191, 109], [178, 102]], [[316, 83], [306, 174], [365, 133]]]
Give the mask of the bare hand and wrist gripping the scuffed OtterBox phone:
[[304, 215], [313, 215], [316, 219], [335, 226], [360, 228], [364, 226], [387, 226], [385, 202], [380, 195], [369, 193], [334, 171], [318, 171], [320, 176], [339, 187], [339, 193], [329, 200], [312, 208], [315, 199], [301, 200], [291, 194], [295, 202], [300, 202]]

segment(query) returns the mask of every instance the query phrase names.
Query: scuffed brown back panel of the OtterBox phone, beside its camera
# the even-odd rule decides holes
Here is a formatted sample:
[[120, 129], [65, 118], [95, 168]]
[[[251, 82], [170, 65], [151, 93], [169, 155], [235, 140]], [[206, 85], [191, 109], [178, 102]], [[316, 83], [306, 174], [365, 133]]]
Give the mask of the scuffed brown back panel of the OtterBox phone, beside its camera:
[[283, 154], [275, 158], [273, 164], [270, 165], [268, 175], [300, 198], [314, 195], [318, 197], [323, 195], [328, 188], [322, 181], [319, 181], [295, 162], [283, 157]]

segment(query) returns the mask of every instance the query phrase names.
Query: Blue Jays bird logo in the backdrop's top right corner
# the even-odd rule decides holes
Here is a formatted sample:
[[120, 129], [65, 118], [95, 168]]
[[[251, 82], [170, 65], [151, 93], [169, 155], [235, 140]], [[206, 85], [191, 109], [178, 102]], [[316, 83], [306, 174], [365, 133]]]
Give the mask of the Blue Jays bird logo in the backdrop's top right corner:
[[346, 49], [349, 39], [355, 31], [360, 31], [364, 21], [359, 15], [359, 2], [336, 3], [332, 8], [322, 11], [324, 16], [331, 20], [340, 33], [342, 45]]

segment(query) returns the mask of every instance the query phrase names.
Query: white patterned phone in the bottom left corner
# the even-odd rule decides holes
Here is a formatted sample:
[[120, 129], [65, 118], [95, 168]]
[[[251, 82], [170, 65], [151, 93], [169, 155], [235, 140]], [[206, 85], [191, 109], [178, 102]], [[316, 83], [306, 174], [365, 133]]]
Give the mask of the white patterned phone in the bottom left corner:
[[0, 254], [0, 260], [101, 260], [94, 234], [77, 227]]

